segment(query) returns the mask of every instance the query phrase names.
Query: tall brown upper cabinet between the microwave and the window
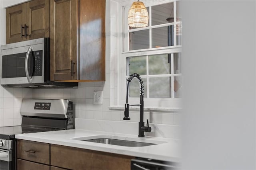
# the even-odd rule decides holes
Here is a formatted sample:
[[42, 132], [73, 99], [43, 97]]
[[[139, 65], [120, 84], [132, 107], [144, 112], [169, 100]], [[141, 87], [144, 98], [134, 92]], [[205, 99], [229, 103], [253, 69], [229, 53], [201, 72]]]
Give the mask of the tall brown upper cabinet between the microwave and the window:
[[105, 0], [50, 0], [50, 79], [105, 80]]

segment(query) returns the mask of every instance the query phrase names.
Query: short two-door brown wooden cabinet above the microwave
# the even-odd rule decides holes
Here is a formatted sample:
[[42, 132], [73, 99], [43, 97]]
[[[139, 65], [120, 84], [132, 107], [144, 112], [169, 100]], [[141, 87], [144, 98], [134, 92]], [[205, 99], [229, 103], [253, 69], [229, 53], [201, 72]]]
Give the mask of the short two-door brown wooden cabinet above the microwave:
[[42, 37], [49, 37], [49, 0], [6, 9], [6, 44]]

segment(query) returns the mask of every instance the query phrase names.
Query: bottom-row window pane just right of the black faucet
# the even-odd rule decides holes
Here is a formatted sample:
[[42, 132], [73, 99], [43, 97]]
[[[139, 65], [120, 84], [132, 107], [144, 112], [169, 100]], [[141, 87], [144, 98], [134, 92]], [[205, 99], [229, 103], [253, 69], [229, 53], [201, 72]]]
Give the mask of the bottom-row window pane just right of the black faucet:
[[149, 78], [149, 97], [150, 98], [170, 98], [171, 77]]

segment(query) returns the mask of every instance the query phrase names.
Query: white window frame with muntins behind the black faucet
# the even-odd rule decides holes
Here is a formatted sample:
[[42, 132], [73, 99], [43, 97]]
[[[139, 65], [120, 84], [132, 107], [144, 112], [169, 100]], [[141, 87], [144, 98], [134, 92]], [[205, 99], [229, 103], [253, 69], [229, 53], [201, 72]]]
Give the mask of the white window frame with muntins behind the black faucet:
[[[174, 46], [169, 47], [158, 47], [158, 48], [151, 48], [152, 47], [152, 38], [151, 38], [151, 30], [149, 28], [156, 28], [156, 27], [163, 27], [168, 25], [174, 25], [174, 31], [176, 32], [176, 0], [144, 0], [145, 6], [154, 6], [154, 5], [160, 5], [160, 4], [166, 4], [170, 2], [174, 2], [174, 23], [166, 23], [161, 25], [153, 25], [149, 27], [144, 28], [136, 28], [129, 30], [128, 29], [128, 20], [126, 19], [128, 16], [128, 10], [124, 10], [125, 8], [130, 8], [132, 5], [132, 2], [134, 0], [127, 0], [125, 2], [119, 3], [119, 51], [118, 51], [118, 70], [119, 70], [119, 76], [118, 76], [118, 105], [123, 106], [126, 103], [126, 86], [127, 86], [127, 78], [126, 75], [126, 60], [127, 57], [135, 57], [135, 56], [147, 56], [147, 55], [158, 55], [158, 54], [170, 54], [170, 53], [180, 53], [181, 52], [181, 45], [176, 45], [176, 36], [174, 36]], [[124, 17], [123, 17], [124, 16]], [[151, 8], [149, 11], [149, 16], [151, 18]], [[124, 18], [124, 20], [123, 20]], [[124, 24], [123, 24], [124, 23]], [[126, 25], [123, 27], [123, 25]], [[150, 20], [151, 25], [151, 20]], [[149, 49], [141, 49], [141, 50], [133, 50], [128, 51], [129, 44], [128, 44], [128, 34], [132, 31], [139, 31], [149, 29], [149, 39], [150, 39], [150, 48]], [[176, 35], [176, 33], [174, 34]], [[121, 47], [121, 48], [120, 48]], [[147, 57], [148, 58], [148, 57]], [[172, 55], [172, 61], [173, 61], [173, 55]], [[173, 62], [172, 62], [173, 64]], [[173, 69], [172, 65], [172, 69]], [[173, 71], [172, 71], [173, 73]], [[160, 77], [159, 75], [158, 77]], [[165, 76], [172, 76], [174, 77], [174, 74], [168, 74]], [[181, 74], [175, 74], [175, 76], [181, 76]], [[150, 77], [150, 76], [147, 76]], [[148, 81], [147, 81], [148, 82]], [[172, 81], [171, 87], [172, 92], [174, 88], [174, 81]], [[138, 84], [139, 86], [139, 84]], [[147, 93], [148, 94], [148, 93]], [[150, 108], [181, 108], [181, 98], [173, 98], [174, 94], [172, 94], [172, 98], [144, 98], [144, 106], [150, 107]], [[139, 104], [140, 98], [130, 98], [128, 97], [128, 103], [129, 104]]]

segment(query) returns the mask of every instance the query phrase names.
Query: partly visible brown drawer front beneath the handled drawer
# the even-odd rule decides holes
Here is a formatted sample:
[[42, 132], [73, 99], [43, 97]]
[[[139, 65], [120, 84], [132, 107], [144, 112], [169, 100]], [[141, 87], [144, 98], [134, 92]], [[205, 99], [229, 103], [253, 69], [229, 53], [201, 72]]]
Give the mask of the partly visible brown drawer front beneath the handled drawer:
[[50, 166], [38, 164], [35, 162], [29, 162], [27, 160], [17, 160], [17, 169], [18, 170], [50, 170]]

